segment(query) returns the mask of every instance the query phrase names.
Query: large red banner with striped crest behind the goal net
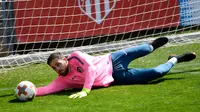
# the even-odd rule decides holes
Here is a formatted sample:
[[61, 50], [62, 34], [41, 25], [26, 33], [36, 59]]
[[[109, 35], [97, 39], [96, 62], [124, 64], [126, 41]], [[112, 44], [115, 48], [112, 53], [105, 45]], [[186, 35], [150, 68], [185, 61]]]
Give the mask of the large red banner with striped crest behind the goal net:
[[57, 41], [178, 26], [177, 0], [14, 2], [19, 42]]

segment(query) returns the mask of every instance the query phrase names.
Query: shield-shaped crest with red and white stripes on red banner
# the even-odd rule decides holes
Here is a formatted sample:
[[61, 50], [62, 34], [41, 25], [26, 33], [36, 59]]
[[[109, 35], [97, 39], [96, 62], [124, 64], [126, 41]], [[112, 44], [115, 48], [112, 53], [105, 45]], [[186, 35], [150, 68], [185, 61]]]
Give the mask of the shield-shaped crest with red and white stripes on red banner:
[[117, 0], [78, 0], [78, 5], [88, 17], [100, 24], [115, 7]]

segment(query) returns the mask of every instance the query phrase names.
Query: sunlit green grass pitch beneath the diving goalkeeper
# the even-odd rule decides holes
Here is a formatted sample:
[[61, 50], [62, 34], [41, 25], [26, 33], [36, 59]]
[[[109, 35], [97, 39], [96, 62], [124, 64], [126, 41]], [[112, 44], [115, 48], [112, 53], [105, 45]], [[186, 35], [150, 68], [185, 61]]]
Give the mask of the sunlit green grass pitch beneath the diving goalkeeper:
[[0, 112], [199, 112], [200, 44], [165, 47], [134, 60], [130, 67], [155, 67], [166, 62], [168, 54], [194, 51], [194, 61], [180, 63], [163, 78], [149, 84], [119, 85], [94, 89], [82, 99], [69, 99], [78, 90], [36, 97], [19, 102], [14, 88], [23, 80], [37, 87], [50, 83], [57, 74], [46, 64], [33, 64], [0, 73]]

